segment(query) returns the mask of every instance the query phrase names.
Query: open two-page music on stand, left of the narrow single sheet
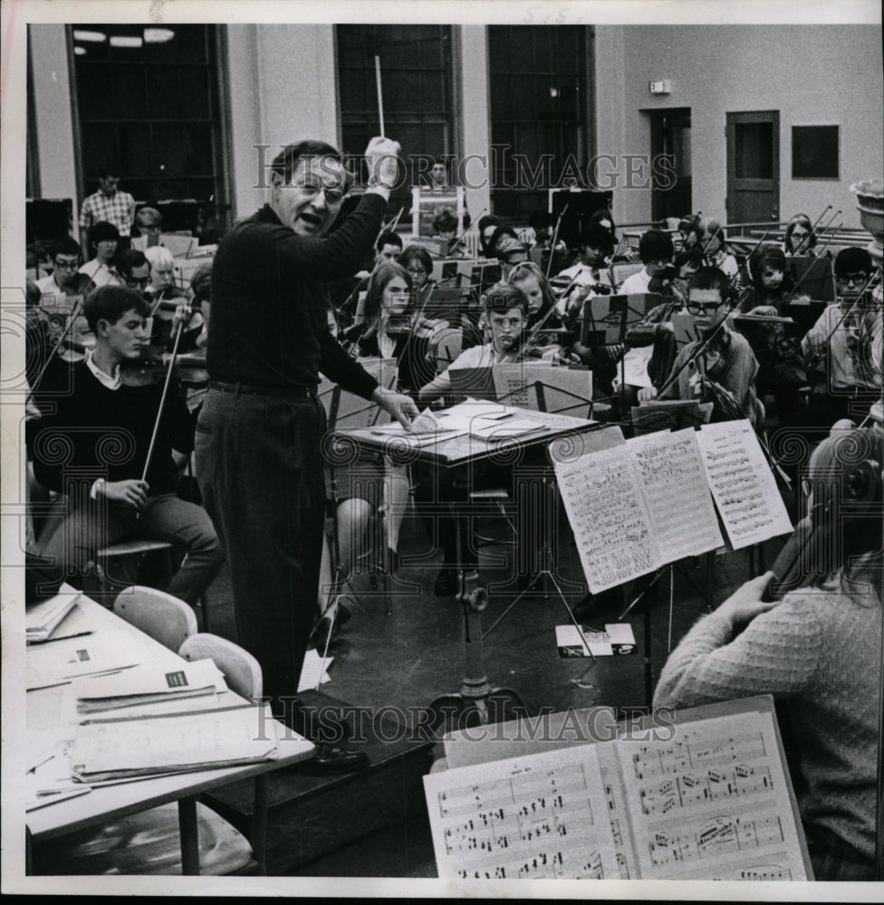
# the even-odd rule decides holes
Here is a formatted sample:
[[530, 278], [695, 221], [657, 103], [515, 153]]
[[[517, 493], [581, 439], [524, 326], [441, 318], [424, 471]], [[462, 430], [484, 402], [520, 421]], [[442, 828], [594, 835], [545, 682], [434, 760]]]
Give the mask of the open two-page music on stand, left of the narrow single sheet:
[[555, 474], [592, 594], [723, 543], [690, 429], [556, 462]]

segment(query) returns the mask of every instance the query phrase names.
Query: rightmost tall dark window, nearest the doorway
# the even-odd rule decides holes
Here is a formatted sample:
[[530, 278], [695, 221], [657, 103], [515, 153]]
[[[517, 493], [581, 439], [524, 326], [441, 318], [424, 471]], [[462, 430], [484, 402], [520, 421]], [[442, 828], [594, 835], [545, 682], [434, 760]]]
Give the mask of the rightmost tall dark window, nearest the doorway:
[[560, 185], [574, 168], [585, 176], [585, 36], [577, 25], [488, 28], [491, 143], [498, 148], [491, 198], [498, 216], [545, 211], [550, 183]]

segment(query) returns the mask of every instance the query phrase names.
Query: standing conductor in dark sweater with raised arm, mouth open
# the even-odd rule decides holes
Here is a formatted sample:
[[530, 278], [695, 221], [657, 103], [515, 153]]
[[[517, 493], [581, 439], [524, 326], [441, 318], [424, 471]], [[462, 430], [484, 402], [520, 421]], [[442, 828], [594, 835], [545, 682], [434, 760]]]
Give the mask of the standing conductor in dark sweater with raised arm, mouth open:
[[[351, 176], [321, 141], [288, 145], [268, 203], [226, 233], [212, 269], [206, 402], [197, 422], [200, 491], [226, 550], [239, 643], [261, 664], [274, 715], [307, 734], [295, 700], [319, 587], [325, 482], [322, 372], [406, 429], [418, 414], [331, 337], [324, 282], [359, 270], [380, 233], [399, 144], [372, 138], [359, 205], [331, 234]], [[364, 766], [320, 744], [312, 772]]]

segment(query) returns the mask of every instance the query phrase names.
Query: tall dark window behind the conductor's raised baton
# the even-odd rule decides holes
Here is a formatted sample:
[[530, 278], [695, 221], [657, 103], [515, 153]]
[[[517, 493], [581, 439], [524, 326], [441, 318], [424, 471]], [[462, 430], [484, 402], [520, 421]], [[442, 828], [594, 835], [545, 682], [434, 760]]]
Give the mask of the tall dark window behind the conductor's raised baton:
[[[377, 56], [384, 131], [399, 141], [411, 163], [408, 184], [394, 193], [393, 200], [410, 205], [410, 186], [428, 171], [429, 158], [455, 152], [451, 29], [447, 25], [338, 25], [335, 35], [343, 150], [361, 154], [369, 139], [380, 134]], [[423, 159], [418, 160], [419, 156]]]

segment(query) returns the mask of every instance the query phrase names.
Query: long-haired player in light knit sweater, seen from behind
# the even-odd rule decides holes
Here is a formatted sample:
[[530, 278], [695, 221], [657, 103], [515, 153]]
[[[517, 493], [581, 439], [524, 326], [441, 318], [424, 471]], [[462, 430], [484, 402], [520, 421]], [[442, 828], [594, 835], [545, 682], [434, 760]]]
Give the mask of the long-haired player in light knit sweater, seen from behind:
[[[654, 694], [655, 709], [759, 694], [786, 704], [818, 881], [875, 879], [880, 465], [859, 484], [855, 470], [859, 462], [880, 463], [882, 453], [878, 429], [823, 440], [802, 482], [811, 530], [802, 538], [795, 588], [767, 603], [773, 572], [746, 582], [682, 639]], [[867, 495], [856, 498], [858, 490]]]

